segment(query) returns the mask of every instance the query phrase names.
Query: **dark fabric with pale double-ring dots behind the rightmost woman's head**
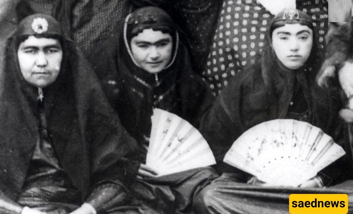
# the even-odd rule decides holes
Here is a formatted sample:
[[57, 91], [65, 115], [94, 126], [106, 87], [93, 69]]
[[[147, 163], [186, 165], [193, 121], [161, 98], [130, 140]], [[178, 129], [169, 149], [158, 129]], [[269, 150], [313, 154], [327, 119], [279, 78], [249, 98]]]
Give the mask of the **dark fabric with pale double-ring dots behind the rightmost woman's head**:
[[[327, 1], [297, 1], [297, 8], [312, 15], [321, 52], [327, 32]], [[229, 78], [255, 63], [273, 15], [256, 0], [225, 0], [202, 76], [217, 96]]]

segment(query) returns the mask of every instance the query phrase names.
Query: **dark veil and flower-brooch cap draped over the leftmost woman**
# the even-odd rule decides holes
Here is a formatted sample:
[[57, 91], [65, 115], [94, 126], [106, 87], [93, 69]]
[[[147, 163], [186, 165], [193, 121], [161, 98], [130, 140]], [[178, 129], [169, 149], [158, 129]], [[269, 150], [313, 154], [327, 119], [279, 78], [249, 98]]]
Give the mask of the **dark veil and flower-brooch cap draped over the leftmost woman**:
[[21, 37], [31, 35], [58, 38], [63, 50], [58, 78], [43, 88], [48, 133], [63, 169], [83, 198], [96, 182], [128, 183], [139, 166], [126, 158], [135, 154], [136, 142], [125, 134], [94, 72], [58, 22], [35, 14], [22, 20], [7, 41], [0, 94], [0, 190], [16, 200], [38, 140], [38, 88], [24, 80], [17, 57]]

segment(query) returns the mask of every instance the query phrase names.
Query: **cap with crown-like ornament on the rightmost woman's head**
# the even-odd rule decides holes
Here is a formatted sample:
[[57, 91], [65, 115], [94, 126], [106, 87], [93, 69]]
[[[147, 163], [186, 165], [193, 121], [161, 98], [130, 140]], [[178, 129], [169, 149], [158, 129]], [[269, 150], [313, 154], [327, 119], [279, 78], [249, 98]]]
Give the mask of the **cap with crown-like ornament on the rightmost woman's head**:
[[301, 24], [313, 29], [312, 18], [301, 10], [295, 8], [285, 8], [275, 17], [273, 17], [270, 25], [270, 33], [285, 24]]

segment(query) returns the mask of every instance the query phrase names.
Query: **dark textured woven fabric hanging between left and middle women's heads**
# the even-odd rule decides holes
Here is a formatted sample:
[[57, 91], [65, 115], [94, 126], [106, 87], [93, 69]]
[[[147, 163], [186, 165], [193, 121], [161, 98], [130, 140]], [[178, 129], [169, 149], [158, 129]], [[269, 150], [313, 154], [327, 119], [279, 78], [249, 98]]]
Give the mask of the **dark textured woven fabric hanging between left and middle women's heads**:
[[98, 42], [120, 29], [130, 12], [128, 0], [80, 0], [72, 12], [73, 39], [89, 54]]

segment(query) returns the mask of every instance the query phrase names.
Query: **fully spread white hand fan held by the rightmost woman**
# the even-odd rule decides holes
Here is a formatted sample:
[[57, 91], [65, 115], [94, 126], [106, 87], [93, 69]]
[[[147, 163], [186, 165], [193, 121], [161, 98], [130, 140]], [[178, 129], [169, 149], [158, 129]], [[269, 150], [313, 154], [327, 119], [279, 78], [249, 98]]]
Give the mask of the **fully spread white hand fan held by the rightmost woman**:
[[244, 132], [223, 161], [269, 185], [297, 187], [344, 154], [321, 129], [306, 122], [277, 119]]

